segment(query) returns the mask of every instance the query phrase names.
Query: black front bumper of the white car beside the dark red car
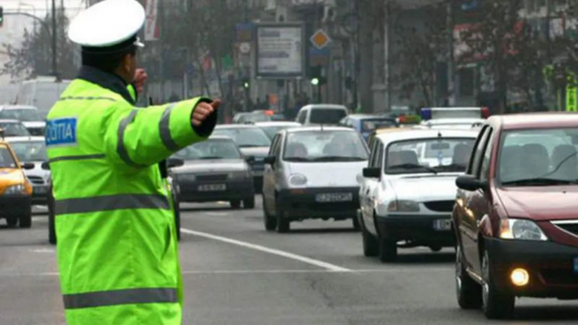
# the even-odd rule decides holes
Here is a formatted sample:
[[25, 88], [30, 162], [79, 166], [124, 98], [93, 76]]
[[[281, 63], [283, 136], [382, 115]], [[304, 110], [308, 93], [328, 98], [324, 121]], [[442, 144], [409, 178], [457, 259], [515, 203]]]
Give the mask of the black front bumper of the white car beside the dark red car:
[[454, 246], [455, 234], [451, 229], [436, 229], [436, 221], [451, 221], [451, 212], [447, 214], [390, 214], [377, 216], [380, 234], [398, 241], [408, 240], [417, 245]]

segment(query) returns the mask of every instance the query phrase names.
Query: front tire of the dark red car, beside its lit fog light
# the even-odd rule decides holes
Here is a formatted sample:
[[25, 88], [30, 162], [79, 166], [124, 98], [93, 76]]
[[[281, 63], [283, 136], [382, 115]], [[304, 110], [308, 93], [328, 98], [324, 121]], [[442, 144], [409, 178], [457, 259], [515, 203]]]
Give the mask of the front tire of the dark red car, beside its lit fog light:
[[487, 319], [507, 319], [512, 316], [516, 297], [506, 290], [499, 290], [494, 283], [494, 271], [492, 270], [490, 254], [484, 249], [481, 260], [482, 285], [482, 311]]

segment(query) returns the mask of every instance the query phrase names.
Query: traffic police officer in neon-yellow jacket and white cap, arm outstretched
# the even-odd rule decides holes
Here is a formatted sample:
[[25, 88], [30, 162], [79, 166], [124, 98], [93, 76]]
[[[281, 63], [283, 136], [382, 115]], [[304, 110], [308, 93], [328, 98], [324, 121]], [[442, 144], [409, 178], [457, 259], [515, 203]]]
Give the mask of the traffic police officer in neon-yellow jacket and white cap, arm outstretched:
[[175, 221], [157, 163], [206, 139], [220, 102], [134, 106], [144, 21], [137, 1], [105, 0], [69, 26], [83, 66], [46, 127], [68, 325], [181, 324]]

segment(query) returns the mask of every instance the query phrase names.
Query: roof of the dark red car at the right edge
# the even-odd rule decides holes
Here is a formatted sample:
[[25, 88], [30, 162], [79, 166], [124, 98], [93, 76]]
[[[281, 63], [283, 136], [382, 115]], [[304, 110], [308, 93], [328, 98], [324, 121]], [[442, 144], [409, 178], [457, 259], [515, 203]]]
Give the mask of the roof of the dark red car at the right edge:
[[573, 112], [540, 112], [493, 115], [488, 124], [496, 123], [503, 129], [571, 128], [578, 126], [578, 114]]

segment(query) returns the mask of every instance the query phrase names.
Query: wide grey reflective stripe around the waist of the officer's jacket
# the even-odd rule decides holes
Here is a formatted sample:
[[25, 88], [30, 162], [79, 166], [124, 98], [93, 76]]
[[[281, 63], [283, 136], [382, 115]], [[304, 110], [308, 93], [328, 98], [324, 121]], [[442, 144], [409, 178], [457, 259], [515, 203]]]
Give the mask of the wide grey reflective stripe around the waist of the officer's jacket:
[[170, 210], [168, 197], [160, 194], [117, 194], [54, 201], [55, 214], [90, 213], [121, 209]]

